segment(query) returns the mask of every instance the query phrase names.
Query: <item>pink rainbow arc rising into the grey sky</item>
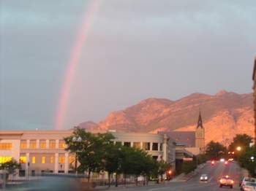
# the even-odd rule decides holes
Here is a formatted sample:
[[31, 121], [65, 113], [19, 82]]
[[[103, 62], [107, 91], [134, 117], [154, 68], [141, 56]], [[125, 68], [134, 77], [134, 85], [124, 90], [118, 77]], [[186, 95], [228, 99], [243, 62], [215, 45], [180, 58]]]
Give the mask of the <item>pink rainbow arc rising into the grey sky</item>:
[[89, 7], [83, 18], [83, 25], [80, 28], [80, 31], [78, 31], [78, 35], [75, 38], [75, 44], [72, 48], [69, 62], [67, 63], [67, 69], [64, 74], [64, 82], [61, 85], [61, 91], [59, 94], [59, 102], [57, 106], [54, 125], [54, 128], [56, 130], [60, 130], [63, 128], [64, 116], [67, 110], [67, 103], [69, 100], [70, 88], [75, 75], [75, 68], [78, 64], [83, 44], [85, 44], [86, 42], [93, 17], [95, 15], [95, 12], [97, 12], [97, 8], [99, 7], [98, 2], [98, 0], [89, 1]]

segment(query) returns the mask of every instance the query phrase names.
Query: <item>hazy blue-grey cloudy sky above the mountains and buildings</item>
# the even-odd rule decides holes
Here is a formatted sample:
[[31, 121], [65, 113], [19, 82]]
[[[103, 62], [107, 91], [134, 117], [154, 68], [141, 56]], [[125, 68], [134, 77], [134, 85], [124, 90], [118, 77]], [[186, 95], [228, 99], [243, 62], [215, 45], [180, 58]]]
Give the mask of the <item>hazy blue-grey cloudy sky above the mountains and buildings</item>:
[[255, 18], [255, 0], [0, 0], [0, 129], [54, 128], [74, 51], [63, 129], [146, 98], [251, 93]]

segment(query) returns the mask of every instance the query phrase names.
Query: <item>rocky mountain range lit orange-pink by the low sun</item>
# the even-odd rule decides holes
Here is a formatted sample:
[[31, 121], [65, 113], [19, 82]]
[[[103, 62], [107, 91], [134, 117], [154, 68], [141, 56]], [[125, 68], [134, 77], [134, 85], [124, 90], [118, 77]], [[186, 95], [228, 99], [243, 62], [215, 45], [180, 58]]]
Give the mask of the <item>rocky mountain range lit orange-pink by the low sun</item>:
[[80, 127], [94, 130], [150, 132], [195, 130], [199, 110], [206, 128], [206, 142], [228, 144], [236, 133], [253, 136], [252, 93], [219, 91], [216, 95], [193, 93], [177, 101], [148, 98], [134, 106], [110, 113], [97, 123], [83, 122]]

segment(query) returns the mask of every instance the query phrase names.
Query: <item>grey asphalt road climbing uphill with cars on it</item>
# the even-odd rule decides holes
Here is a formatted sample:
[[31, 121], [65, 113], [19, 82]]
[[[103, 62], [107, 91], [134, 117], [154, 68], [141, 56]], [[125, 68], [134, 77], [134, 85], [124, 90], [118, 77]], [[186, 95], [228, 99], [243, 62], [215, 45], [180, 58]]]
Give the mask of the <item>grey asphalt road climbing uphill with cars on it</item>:
[[[208, 175], [208, 182], [200, 182], [200, 175], [207, 174]], [[211, 165], [211, 163], [207, 163], [206, 166], [200, 169], [200, 172], [197, 176], [192, 177], [187, 182], [169, 182], [165, 185], [157, 185], [157, 186], [150, 186], [150, 187], [131, 187], [126, 188], [126, 191], [132, 190], [147, 190], [147, 191], [165, 191], [165, 190], [173, 190], [173, 191], [214, 191], [214, 190], [230, 190], [230, 187], [219, 187], [219, 179], [223, 175], [229, 175], [232, 179], [234, 179], [234, 187], [233, 190], [240, 190], [239, 189], [239, 181], [241, 179], [241, 168], [236, 163], [229, 163], [225, 165], [224, 163], [216, 163], [215, 165]], [[111, 190], [111, 189], [110, 189]], [[119, 190], [114, 188], [113, 190]], [[121, 189], [120, 189], [121, 190]], [[124, 190], [124, 189], [123, 189]]]

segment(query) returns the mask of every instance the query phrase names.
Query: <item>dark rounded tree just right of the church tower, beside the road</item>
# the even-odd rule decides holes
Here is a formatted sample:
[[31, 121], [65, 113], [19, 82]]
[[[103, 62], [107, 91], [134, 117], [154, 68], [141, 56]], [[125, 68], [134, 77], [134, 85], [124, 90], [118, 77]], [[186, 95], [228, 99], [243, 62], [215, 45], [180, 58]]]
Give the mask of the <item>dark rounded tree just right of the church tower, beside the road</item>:
[[219, 142], [211, 141], [206, 146], [206, 156], [211, 160], [219, 160], [220, 157], [225, 156], [227, 148]]

